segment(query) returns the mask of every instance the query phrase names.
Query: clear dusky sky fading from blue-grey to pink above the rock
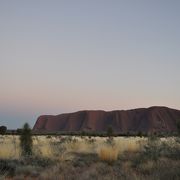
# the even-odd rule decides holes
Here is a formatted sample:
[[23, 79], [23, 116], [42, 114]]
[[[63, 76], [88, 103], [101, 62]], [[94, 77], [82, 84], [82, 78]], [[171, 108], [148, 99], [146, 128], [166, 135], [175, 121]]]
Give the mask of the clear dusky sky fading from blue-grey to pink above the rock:
[[150, 106], [180, 109], [179, 0], [0, 0], [0, 125]]

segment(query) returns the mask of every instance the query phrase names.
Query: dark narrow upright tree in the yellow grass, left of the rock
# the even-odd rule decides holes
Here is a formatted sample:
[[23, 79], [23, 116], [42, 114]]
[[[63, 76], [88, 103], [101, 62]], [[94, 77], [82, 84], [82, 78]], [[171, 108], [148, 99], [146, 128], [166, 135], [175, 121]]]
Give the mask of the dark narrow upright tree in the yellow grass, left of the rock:
[[32, 155], [32, 134], [28, 123], [25, 123], [20, 134], [20, 147], [22, 156]]

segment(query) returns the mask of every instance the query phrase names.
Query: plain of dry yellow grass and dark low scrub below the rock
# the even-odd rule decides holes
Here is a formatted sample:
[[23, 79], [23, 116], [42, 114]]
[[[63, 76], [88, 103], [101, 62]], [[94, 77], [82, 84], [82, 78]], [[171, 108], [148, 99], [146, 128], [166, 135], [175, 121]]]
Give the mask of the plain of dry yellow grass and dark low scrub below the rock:
[[179, 137], [0, 136], [1, 179], [179, 179]]

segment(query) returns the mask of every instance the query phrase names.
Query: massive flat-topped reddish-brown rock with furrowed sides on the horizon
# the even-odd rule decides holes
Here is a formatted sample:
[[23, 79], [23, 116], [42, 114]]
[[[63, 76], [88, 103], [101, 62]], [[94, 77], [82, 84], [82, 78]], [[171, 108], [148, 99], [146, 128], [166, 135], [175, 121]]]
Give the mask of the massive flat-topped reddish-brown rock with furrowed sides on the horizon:
[[56, 116], [40, 116], [33, 130], [105, 132], [109, 126], [117, 133], [177, 131], [180, 111], [167, 107], [150, 107], [118, 111], [79, 111]]

